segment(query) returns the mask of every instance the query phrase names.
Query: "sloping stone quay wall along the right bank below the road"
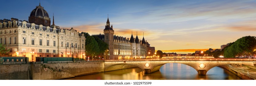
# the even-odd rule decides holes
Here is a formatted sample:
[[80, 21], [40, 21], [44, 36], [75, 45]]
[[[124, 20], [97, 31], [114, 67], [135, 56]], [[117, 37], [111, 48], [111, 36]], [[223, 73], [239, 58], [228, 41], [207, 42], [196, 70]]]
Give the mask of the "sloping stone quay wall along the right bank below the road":
[[240, 73], [240, 72], [236, 71], [235, 69], [230, 68], [228, 65], [221, 65], [220, 67], [223, 67], [223, 68], [227, 69], [228, 71], [236, 74], [238, 77], [242, 78], [243, 80], [254, 80], [253, 78], [250, 78], [250, 75], [245, 75], [243, 73]]

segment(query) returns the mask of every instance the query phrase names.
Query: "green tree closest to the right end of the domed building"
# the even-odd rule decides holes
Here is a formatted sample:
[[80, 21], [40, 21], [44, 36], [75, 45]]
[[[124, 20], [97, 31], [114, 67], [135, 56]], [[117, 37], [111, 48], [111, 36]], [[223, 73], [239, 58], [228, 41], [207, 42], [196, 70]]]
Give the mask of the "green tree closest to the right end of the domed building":
[[87, 37], [85, 41], [85, 47], [86, 47], [87, 55], [92, 57], [98, 55], [99, 46], [98, 46], [98, 43], [95, 41], [94, 37], [92, 36]]

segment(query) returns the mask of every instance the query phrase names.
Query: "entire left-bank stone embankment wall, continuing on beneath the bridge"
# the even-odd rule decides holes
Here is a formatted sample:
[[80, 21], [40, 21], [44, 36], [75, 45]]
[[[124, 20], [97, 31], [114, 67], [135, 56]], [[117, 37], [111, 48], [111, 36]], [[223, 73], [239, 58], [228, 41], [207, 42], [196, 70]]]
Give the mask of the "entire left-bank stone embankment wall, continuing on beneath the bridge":
[[133, 67], [136, 66], [120, 64], [104, 70], [104, 61], [2, 64], [0, 65], [0, 80], [59, 80]]

